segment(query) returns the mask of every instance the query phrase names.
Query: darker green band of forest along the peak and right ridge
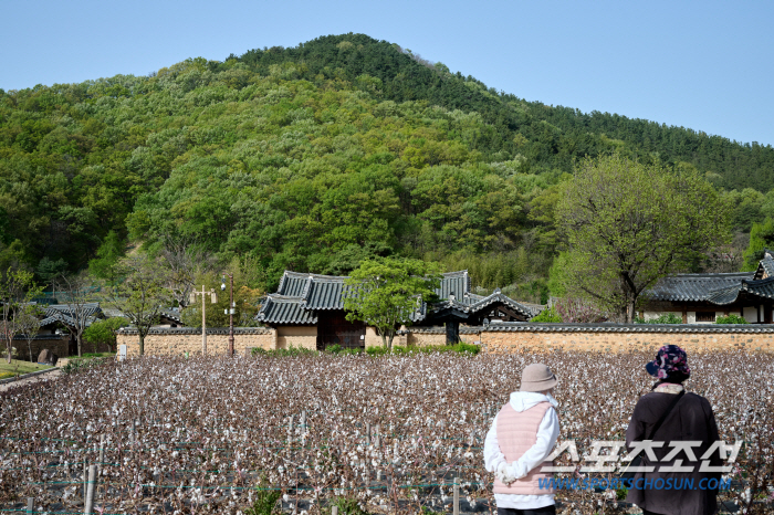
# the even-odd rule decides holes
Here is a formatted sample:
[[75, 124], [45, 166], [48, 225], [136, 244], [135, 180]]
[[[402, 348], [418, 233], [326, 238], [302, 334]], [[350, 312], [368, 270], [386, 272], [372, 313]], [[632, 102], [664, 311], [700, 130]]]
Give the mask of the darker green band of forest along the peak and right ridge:
[[[411, 59], [415, 57], [415, 59]], [[571, 171], [574, 157], [596, 156], [621, 147], [640, 159], [688, 161], [710, 172], [728, 189], [774, 187], [774, 148], [741, 145], [721, 136], [655, 122], [526, 102], [498, 92], [442, 63], [431, 64], [398, 45], [364, 34], [318, 38], [292, 49], [253, 50], [229, 59], [266, 74], [273, 64], [301, 63], [296, 76], [308, 81], [339, 76], [356, 82], [362, 74], [381, 82], [381, 96], [395, 102], [423, 99], [450, 109], [477, 112], [488, 129], [471, 141], [487, 160], [520, 154], [538, 169]], [[212, 63], [212, 70], [228, 66]], [[360, 88], [364, 88], [360, 85]], [[719, 177], [715, 177], [719, 176]]]

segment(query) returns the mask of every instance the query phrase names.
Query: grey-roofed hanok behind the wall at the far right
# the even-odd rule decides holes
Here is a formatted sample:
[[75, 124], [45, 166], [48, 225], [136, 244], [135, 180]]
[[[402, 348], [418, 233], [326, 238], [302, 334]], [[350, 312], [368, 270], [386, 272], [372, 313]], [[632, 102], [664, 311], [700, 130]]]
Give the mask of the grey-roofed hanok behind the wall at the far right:
[[774, 252], [765, 250], [755, 272], [677, 274], [646, 292], [646, 319], [667, 313], [684, 324], [711, 324], [730, 314], [751, 324], [771, 324], [774, 307]]

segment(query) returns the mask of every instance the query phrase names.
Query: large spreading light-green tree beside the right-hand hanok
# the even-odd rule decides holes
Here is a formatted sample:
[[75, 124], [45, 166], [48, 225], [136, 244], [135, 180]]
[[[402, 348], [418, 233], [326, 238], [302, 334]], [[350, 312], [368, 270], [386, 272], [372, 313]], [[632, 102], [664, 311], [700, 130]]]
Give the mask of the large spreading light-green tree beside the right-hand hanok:
[[586, 158], [556, 207], [565, 287], [631, 322], [642, 292], [731, 239], [730, 208], [695, 171]]

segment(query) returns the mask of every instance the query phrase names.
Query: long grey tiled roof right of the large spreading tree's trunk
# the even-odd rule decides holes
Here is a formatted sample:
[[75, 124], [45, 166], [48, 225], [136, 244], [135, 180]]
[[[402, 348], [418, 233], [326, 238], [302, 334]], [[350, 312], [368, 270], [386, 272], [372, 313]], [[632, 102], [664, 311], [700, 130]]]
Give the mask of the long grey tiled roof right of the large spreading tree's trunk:
[[701, 302], [713, 292], [739, 286], [742, 281], [752, 278], [751, 272], [669, 275], [646, 292], [646, 297], [648, 301]]

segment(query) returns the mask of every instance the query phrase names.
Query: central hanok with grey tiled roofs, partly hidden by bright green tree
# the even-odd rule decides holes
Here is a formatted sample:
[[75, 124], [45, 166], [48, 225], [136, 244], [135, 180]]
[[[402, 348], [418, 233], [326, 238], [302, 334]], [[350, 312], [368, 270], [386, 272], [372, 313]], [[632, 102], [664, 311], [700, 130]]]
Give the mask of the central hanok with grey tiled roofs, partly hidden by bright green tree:
[[[255, 319], [274, 327], [278, 348], [293, 346], [324, 349], [330, 345], [364, 348], [380, 345], [373, 327], [349, 322], [344, 311], [345, 276], [285, 271], [276, 293], [269, 294]], [[459, 340], [460, 324], [480, 326], [490, 322], [526, 322], [538, 311], [503, 295], [471, 292], [468, 271], [443, 274], [436, 290], [438, 302], [421, 302], [411, 315], [414, 325], [446, 325], [447, 341]]]

